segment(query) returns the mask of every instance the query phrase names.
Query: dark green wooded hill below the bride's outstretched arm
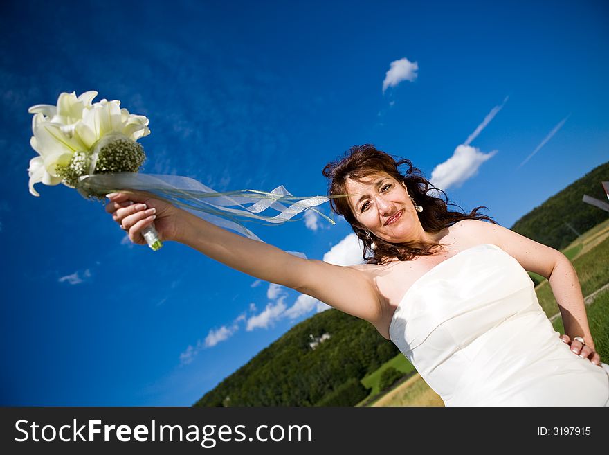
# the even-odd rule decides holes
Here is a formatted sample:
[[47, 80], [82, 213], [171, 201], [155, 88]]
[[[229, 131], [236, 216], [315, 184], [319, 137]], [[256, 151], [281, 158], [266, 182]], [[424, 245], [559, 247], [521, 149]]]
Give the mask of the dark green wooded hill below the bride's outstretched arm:
[[354, 405], [370, 393], [361, 378], [398, 353], [373, 325], [331, 308], [295, 325], [194, 406]]

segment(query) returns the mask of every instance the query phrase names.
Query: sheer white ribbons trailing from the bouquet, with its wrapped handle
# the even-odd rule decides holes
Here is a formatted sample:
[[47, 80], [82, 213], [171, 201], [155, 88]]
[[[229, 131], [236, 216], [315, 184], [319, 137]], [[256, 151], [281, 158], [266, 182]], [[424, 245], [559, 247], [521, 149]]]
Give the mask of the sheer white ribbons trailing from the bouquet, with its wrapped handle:
[[[248, 220], [260, 224], [283, 224], [290, 221], [298, 213], [312, 210], [331, 224], [336, 224], [334, 220], [313, 208], [329, 201], [328, 197], [296, 197], [291, 195], [283, 185], [278, 186], [270, 193], [248, 189], [217, 192], [190, 177], [117, 172], [84, 175], [80, 177], [77, 189], [87, 199], [91, 194], [106, 195], [107, 193], [128, 190], [144, 191], [174, 206], [183, 208], [216, 226], [236, 231], [259, 242], [262, 242], [262, 240], [247, 229], [242, 224], [243, 221]], [[250, 205], [245, 206], [244, 204]], [[273, 216], [260, 214], [271, 208], [279, 213]], [[149, 242], [148, 238], [151, 239], [153, 244], [154, 242], [161, 242], [158, 235], [156, 235], [156, 239], [154, 238], [154, 233], [149, 233], [148, 238], [146, 233], [143, 233], [143, 235], [147, 242]], [[150, 242], [149, 246], [155, 249]], [[298, 251], [288, 252], [301, 258], [307, 258], [304, 253]]]

